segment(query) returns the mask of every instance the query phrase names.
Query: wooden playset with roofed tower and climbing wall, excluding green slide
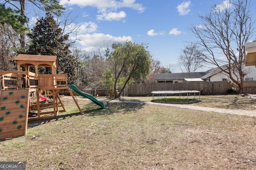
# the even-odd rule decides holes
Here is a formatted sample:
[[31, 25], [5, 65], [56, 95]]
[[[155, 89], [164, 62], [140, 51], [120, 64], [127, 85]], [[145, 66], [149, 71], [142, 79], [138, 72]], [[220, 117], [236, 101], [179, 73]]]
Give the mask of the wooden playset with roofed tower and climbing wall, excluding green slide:
[[[56, 73], [56, 56], [20, 54], [14, 61], [18, 71], [0, 71], [0, 139], [26, 135], [28, 121], [54, 118], [59, 112], [66, 111], [59, 96], [64, 89], [70, 92], [82, 113], [68, 88], [67, 75]], [[34, 67], [35, 72], [30, 72], [30, 67]], [[38, 67], [48, 67], [52, 74], [38, 74]], [[30, 101], [33, 93], [37, 99], [34, 104]], [[43, 96], [46, 99], [51, 96], [53, 102], [42, 102]], [[30, 117], [29, 113], [36, 116]]]

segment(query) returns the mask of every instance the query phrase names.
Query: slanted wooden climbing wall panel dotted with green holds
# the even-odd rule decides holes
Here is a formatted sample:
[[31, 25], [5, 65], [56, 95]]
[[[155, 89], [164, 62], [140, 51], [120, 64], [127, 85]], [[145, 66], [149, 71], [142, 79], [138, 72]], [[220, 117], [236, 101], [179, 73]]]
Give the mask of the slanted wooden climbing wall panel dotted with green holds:
[[0, 90], [0, 139], [26, 135], [29, 89]]

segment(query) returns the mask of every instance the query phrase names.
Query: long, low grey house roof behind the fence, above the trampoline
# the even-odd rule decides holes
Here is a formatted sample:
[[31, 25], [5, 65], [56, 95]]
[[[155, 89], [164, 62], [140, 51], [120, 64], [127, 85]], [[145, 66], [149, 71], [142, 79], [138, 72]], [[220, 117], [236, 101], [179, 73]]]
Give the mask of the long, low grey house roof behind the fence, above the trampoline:
[[158, 73], [155, 80], [184, 80], [184, 78], [201, 78], [208, 72]]

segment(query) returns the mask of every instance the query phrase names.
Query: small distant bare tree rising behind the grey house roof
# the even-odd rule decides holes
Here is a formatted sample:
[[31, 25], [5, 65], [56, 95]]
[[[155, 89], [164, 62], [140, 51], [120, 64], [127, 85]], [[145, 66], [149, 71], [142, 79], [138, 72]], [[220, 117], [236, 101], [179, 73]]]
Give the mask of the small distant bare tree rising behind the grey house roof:
[[204, 66], [202, 56], [203, 54], [199, 50], [198, 45], [193, 43], [187, 45], [181, 50], [181, 54], [178, 58], [180, 69], [182, 70], [182, 66], [184, 66], [186, 72], [196, 72], [196, 70]]

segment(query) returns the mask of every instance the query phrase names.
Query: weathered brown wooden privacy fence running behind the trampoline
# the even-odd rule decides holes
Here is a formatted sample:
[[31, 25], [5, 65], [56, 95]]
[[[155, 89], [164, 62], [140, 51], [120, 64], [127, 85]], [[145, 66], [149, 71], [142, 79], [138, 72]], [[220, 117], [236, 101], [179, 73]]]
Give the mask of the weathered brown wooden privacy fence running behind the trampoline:
[[[232, 87], [238, 87], [232, 82], [183, 82], [134, 84], [129, 86], [128, 96], [151, 96], [153, 91], [161, 90], [201, 90], [204, 95], [227, 94]], [[256, 81], [244, 82], [244, 93], [256, 93]]]

